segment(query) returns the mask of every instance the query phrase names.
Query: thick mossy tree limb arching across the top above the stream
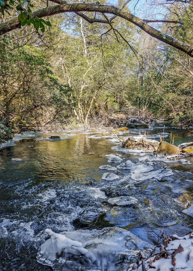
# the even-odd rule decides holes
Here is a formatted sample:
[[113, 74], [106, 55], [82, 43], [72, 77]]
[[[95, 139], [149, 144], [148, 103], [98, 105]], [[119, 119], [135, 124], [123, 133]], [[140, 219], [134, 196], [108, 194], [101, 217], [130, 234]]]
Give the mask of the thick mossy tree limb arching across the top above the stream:
[[[166, 44], [169, 44], [185, 53], [189, 56], [193, 57], [193, 46], [189, 44], [185, 44], [180, 40], [177, 40], [167, 34], [162, 33], [161, 31], [151, 27], [147, 24], [145, 20], [142, 20], [131, 13], [117, 8], [112, 5], [99, 5], [99, 4], [87, 4], [87, 3], [78, 3], [78, 4], [64, 4], [64, 5], [55, 5], [49, 6], [37, 11], [32, 12], [32, 16], [37, 16], [38, 18], [42, 18], [45, 16], [51, 16], [59, 13], [65, 12], [81, 12], [81, 11], [93, 11], [93, 12], [101, 12], [101, 13], [109, 13], [121, 18], [124, 18], [127, 21], [135, 24], [140, 27], [143, 31], [149, 34], [152, 37], [157, 38], [158, 40], [163, 41]], [[18, 17], [15, 17], [5, 23], [0, 24], [0, 34], [5, 34], [13, 29], [21, 27], [20, 21], [18, 21]]]

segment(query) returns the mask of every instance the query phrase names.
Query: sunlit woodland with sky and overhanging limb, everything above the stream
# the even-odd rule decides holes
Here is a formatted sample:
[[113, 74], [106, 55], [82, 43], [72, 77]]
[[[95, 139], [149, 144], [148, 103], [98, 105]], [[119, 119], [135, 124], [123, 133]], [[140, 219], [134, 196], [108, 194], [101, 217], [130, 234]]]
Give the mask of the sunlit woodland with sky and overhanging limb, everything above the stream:
[[0, 0], [0, 138], [193, 119], [193, 1]]

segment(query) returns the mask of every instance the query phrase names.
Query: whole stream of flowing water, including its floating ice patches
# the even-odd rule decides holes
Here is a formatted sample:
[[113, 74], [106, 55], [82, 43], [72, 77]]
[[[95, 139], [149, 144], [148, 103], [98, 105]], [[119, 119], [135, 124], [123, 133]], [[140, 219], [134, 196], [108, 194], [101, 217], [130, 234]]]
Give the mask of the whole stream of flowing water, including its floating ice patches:
[[[167, 127], [168, 142], [170, 132], [175, 145], [193, 141], [193, 132]], [[159, 140], [163, 127], [147, 134]], [[122, 134], [134, 135], [137, 130]], [[15, 135], [1, 148], [0, 270], [122, 271], [139, 252], [147, 255], [162, 232], [192, 230], [193, 208], [177, 198], [186, 194], [193, 202], [193, 156], [155, 157], [118, 145], [114, 135], [58, 132]], [[39, 250], [46, 228], [94, 256], [46, 259]]]

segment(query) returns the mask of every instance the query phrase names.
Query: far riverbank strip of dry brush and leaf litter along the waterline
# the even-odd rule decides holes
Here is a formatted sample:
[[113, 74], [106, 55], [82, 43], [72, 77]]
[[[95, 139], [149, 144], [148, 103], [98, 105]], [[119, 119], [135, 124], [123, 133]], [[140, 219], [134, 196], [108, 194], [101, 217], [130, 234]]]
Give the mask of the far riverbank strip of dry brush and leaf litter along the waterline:
[[[123, 117], [123, 116], [120, 116]], [[125, 117], [125, 116], [124, 116]], [[77, 121], [71, 121], [69, 123], [61, 124], [59, 122], [52, 122], [45, 126], [24, 126], [12, 129], [7, 127], [3, 122], [0, 122], [0, 144], [5, 143], [9, 139], [13, 138], [14, 134], [19, 134], [21, 132], [46, 132], [46, 131], [86, 131], [94, 129], [109, 129], [109, 127], [119, 128], [119, 127], [128, 127], [128, 129], [148, 129], [151, 125], [159, 125], [160, 127], [170, 126], [171, 128], [179, 129], [193, 129], [193, 120], [187, 120], [179, 124], [172, 124], [172, 122], [164, 119], [153, 119], [147, 118], [142, 119], [138, 117], [128, 117], [128, 118], [108, 118], [108, 122], [100, 121], [100, 119], [90, 119], [87, 124], [78, 123]]]

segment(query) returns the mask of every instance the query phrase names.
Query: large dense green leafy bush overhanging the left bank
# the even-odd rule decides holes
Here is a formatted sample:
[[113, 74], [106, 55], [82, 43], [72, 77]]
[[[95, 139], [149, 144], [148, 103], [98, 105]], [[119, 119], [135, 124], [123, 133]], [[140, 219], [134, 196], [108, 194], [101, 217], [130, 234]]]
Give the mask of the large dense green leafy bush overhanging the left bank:
[[50, 108], [55, 115], [70, 110], [73, 90], [54, 76], [44, 51], [13, 40], [0, 39], [0, 114], [8, 129], [18, 131], [39, 124]]

